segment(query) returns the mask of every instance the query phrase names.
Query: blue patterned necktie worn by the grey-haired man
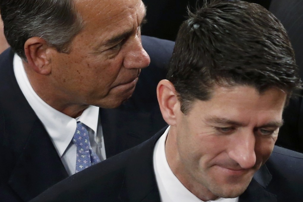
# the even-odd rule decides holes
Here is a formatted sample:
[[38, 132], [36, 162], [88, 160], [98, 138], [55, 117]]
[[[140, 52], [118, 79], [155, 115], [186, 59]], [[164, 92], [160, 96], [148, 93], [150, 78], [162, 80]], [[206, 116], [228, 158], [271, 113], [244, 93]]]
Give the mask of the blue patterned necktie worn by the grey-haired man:
[[100, 162], [97, 154], [92, 151], [87, 126], [80, 121], [77, 122], [73, 143], [77, 146], [76, 173]]

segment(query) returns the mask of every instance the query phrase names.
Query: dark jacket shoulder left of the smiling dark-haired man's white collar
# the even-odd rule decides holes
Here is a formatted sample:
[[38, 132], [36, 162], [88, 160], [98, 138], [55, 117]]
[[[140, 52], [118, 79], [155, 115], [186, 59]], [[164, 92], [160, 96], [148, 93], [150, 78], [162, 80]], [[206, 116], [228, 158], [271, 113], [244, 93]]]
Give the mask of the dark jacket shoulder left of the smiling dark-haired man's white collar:
[[166, 127], [136, 147], [68, 177], [31, 202], [160, 201], [152, 166], [155, 142]]

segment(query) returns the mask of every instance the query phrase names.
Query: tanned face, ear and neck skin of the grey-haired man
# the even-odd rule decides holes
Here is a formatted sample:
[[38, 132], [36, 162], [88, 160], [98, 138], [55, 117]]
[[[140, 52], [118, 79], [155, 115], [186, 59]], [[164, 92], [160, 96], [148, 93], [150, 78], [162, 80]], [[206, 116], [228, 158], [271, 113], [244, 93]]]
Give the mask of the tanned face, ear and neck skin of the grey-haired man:
[[88, 105], [115, 108], [131, 97], [141, 68], [150, 63], [142, 48], [141, 0], [77, 0], [84, 28], [69, 54], [59, 53], [42, 38], [25, 43], [25, 71], [35, 92], [71, 117]]

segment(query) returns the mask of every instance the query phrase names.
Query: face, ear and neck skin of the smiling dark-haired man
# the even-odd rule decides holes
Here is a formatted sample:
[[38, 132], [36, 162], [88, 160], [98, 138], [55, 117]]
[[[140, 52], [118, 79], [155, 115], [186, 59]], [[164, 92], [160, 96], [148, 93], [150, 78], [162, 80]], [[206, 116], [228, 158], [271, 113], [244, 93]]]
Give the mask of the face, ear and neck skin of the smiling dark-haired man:
[[241, 195], [274, 148], [286, 93], [215, 85], [211, 99], [194, 101], [186, 115], [169, 81], [160, 81], [157, 95], [171, 125], [165, 154], [175, 176], [204, 201]]

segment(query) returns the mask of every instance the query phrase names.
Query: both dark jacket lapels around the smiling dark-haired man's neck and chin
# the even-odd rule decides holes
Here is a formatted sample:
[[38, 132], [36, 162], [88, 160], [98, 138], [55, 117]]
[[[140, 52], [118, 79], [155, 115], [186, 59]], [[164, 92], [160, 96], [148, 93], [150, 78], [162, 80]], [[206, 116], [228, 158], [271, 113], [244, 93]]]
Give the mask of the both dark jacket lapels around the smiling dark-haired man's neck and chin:
[[[153, 169], [153, 151], [157, 140], [167, 127], [133, 152], [125, 170], [120, 199], [123, 202], [161, 201]], [[239, 202], [276, 202], [276, 196], [265, 189], [271, 181], [266, 165], [256, 172], [247, 189], [239, 197]]]

